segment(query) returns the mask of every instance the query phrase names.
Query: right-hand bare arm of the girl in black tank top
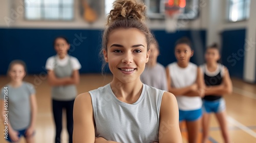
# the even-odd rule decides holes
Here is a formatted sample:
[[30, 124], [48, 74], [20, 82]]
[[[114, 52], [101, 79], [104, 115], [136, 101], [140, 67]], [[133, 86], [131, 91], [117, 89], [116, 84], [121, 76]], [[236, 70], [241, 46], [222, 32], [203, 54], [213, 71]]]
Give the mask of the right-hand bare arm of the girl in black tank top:
[[220, 85], [206, 86], [205, 94], [207, 95], [220, 95], [232, 93], [232, 81], [229, 77], [228, 69], [224, 68], [224, 77]]

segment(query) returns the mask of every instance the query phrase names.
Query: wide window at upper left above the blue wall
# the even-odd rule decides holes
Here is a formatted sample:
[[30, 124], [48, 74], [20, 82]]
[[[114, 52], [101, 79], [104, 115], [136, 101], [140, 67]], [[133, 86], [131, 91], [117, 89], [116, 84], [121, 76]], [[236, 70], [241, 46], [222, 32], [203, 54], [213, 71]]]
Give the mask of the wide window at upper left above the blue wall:
[[27, 20], [72, 20], [74, 0], [24, 0]]

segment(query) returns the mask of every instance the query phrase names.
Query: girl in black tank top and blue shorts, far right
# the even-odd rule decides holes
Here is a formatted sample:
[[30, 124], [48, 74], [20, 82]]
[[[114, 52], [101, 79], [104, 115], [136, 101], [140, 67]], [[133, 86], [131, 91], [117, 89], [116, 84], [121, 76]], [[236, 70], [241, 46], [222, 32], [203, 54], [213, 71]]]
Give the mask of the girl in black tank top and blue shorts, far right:
[[209, 136], [210, 113], [215, 113], [224, 141], [229, 143], [226, 105], [222, 96], [232, 92], [232, 82], [228, 69], [218, 63], [220, 52], [217, 44], [208, 47], [205, 53], [205, 60], [206, 64], [201, 65], [206, 84], [205, 97], [203, 98], [203, 142], [207, 142]]

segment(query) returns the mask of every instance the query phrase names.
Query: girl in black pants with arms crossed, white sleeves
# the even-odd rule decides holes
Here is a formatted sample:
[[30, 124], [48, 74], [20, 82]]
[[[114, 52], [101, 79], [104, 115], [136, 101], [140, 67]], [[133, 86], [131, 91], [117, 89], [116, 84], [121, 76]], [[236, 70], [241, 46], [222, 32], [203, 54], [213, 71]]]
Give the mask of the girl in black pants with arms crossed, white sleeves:
[[47, 59], [48, 81], [52, 86], [52, 109], [56, 127], [55, 143], [60, 143], [62, 130], [62, 109], [67, 112], [67, 129], [69, 142], [73, 133], [73, 106], [77, 95], [76, 84], [79, 83], [79, 61], [68, 55], [70, 44], [65, 37], [54, 40], [57, 55]]

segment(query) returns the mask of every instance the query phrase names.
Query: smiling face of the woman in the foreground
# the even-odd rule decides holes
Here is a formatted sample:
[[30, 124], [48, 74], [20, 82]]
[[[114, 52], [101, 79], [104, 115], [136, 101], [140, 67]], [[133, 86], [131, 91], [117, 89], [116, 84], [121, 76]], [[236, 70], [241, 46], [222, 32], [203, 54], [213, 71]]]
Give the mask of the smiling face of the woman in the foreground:
[[131, 83], [140, 80], [150, 52], [146, 38], [139, 30], [116, 29], [109, 35], [104, 59], [109, 63], [114, 80]]

